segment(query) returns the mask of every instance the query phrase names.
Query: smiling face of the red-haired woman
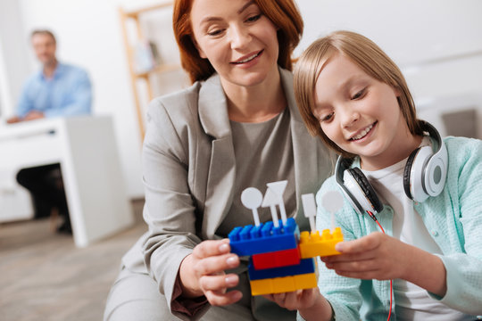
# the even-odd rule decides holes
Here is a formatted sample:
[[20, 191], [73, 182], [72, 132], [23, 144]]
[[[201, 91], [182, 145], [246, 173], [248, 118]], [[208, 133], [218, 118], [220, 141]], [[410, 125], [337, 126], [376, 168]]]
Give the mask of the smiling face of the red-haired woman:
[[195, 44], [221, 81], [237, 86], [262, 83], [278, 71], [276, 26], [252, 0], [194, 0]]

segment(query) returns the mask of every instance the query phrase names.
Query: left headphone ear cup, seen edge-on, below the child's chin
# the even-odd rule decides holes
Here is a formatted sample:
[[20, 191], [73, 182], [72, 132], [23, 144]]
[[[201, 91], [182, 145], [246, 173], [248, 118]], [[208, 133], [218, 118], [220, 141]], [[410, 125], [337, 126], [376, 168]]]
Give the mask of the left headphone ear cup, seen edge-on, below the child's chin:
[[[351, 180], [345, 179], [345, 185], [352, 195], [356, 197], [360, 205], [362, 205], [363, 210], [370, 210], [374, 213], [379, 213], [383, 210], [382, 202], [378, 199], [378, 195], [370, 185], [367, 177], [363, 175], [362, 169], [346, 169], [345, 174], [347, 174], [346, 178], [353, 178]], [[349, 181], [351, 181], [352, 184], [349, 184]]]

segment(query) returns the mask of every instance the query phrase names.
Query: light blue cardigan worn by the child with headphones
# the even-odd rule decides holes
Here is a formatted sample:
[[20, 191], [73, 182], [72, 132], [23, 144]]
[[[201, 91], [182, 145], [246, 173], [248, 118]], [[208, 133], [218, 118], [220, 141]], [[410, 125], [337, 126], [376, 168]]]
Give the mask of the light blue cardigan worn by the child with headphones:
[[[414, 207], [444, 253], [440, 258], [447, 271], [447, 292], [443, 298], [432, 296], [448, 307], [475, 316], [482, 314], [482, 141], [463, 137], [446, 137], [444, 141], [449, 156], [444, 191], [415, 203]], [[332, 190], [339, 191], [335, 177], [329, 177], [321, 186], [318, 204], [322, 195]], [[392, 235], [393, 213], [385, 205], [378, 214], [387, 235]], [[378, 231], [368, 215], [358, 215], [346, 200], [336, 219], [346, 241]], [[317, 227], [319, 230], [330, 227], [330, 215], [322, 206]], [[386, 320], [390, 301], [388, 281], [337, 276], [320, 260], [318, 263], [320, 292], [330, 301], [337, 320]], [[361, 316], [362, 313], [365, 315]]]

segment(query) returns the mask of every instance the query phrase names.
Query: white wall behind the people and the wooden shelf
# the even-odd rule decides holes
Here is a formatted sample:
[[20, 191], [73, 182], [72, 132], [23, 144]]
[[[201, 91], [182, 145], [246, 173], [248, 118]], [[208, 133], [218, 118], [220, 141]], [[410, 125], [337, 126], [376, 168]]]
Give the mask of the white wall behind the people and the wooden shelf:
[[[303, 14], [305, 32], [295, 53], [300, 53], [316, 37], [331, 30], [351, 29], [373, 39], [401, 66], [418, 102], [470, 92], [479, 93], [482, 90], [482, 19], [479, 17], [482, 1], [296, 2]], [[3, 50], [0, 58], [4, 57], [6, 70], [6, 76], [0, 75], [0, 95], [4, 97], [6, 90], [10, 100], [16, 102], [21, 81], [26, 74], [37, 68], [27, 45], [31, 29], [53, 29], [58, 37], [59, 58], [85, 67], [92, 78], [95, 88], [94, 112], [112, 114], [114, 117], [122, 168], [131, 197], [143, 194], [140, 174], [141, 139], [118, 8], [122, 5], [133, 9], [154, 3], [154, 0], [0, 2], [0, 50]], [[158, 33], [165, 36], [171, 32], [169, 20], [169, 15], [154, 16], [145, 21], [145, 26], [154, 37], [159, 38], [161, 36]], [[172, 39], [162, 41], [161, 50], [172, 62], [178, 59]], [[474, 55], [453, 59], [469, 53]], [[449, 59], [444, 61], [446, 57]], [[186, 80], [179, 77], [176, 78], [179, 79], [178, 85], [167, 86], [174, 82], [171, 81], [173, 78], [170, 77], [168, 82], [160, 80], [154, 94], [162, 95], [179, 86], [186, 86]], [[1, 102], [2, 105], [6, 104], [4, 98]], [[10, 112], [8, 106], [3, 108], [4, 114]]]

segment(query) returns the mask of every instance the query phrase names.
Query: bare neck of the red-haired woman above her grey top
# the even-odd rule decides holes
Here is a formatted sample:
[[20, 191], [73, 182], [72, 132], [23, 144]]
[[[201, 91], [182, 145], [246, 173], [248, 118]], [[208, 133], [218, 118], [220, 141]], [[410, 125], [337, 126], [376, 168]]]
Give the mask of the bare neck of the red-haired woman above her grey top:
[[278, 68], [256, 86], [227, 86], [229, 119], [237, 122], [262, 122], [272, 119], [287, 107]]

